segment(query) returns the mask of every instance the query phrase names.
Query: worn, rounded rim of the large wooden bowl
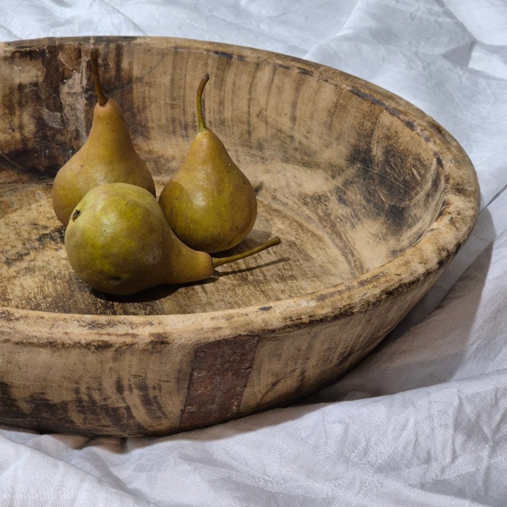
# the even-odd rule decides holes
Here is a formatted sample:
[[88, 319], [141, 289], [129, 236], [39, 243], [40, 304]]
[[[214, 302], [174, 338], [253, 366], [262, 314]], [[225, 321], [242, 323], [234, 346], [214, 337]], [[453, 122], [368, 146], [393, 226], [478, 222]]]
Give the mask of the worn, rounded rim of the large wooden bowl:
[[[455, 255], [472, 231], [479, 212], [480, 190], [475, 168], [457, 140], [436, 120], [402, 97], [342, 70], [298, 57], [263, 49], [211, 41], [173, 37], [124, 37], [105, 35], [28, 39], [0, 43], [0, 57], [16, 49], [62, 45], [116, 44], [156, 47], [222, 54], [228, 58], [269, 60], [274, 65], [292, 66], [314, 79], [324, 80], [383, 107], [400, 120], [405, 128], [427, 143], [445, 178], [444, 198], [437, 219], [419, 240], [367, 273], [319, 289], [318, 291], [252, 305], [210, 312], [166, 315], [99, 315], [46, 312], [0, 306], [0, 329], [15, 329], [20, 321], [30, 322], [25, 340], [43, 341], [58, 335], [74, 335], [81, 343], [131, 340], [134, 332], [143, 340], [208, 342], [245, 332], [252, 335], [280, 334], [313, 322], [329, 321], [363, 312], [388, 296], [403, 292], [422, 278], [438, 271]], [[408, 269], [410, 268], [410, 269]], [[196, 333], [198, 324], [199, 332]], [[92, 331], [84, 333], [85, 330]], [[190, 331], [193, 330], [193, 331]], [[19, 331], [19, 329], [18, 329]], [[16, 333], [13, 333], [16, 336]], [[122, 338], [123, 337], [123, 338]], [[66, 339], [65, 339], [66, 340]]]

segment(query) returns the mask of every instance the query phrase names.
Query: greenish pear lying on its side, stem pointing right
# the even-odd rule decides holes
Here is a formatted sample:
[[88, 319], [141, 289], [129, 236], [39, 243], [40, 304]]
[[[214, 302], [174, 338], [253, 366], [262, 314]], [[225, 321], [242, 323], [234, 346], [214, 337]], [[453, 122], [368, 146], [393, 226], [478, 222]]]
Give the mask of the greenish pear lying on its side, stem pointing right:
[[161, 284], [204, 280], [217, 266], [279, 243], [275, 237], [238, 255], [212, 258], [182, 243], [157, 199], [127, 183], [90, 190], [73, 210], [65, 230], [65, 250], [78, 276], [99, 291], [118, 296]]

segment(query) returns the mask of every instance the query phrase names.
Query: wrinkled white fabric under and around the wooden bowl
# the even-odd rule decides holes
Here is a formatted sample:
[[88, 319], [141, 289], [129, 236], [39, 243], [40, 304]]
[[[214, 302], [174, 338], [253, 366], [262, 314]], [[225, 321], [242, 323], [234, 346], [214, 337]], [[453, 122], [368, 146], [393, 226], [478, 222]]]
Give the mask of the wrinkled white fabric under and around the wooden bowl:
[[0, 505], [507, 505], [505, 0], [2, 0], [0, 12], [3, 41], [169, 35], [340, 68], [447, 128], [482, 196], [441, 279], [334, 385], [159, 439], [0, 425]]

